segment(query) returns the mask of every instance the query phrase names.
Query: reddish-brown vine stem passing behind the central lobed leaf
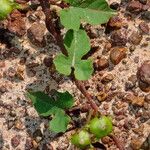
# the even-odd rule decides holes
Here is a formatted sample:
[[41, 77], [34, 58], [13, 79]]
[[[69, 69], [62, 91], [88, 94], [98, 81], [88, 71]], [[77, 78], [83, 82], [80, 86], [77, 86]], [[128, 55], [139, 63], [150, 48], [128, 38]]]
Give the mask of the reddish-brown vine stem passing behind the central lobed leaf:
[[[51, 11], [50, 11], [49, 1], [48, 0], [40, 0], [40, 5], [42, 6], [43, 12], [46, 16], [45, 23], [46, 23], [46, 27], [47, 27], [48, 31], [54, 36], [54, 38], [55, 38], [58, 46], [60, 47], [62, 53], [67, 56], [68, 53], [64, 47], [63, 38], [61, 36], [61, 33], [60, 32], [58, 33], [58, 31], [55, 28], [54, 22], [52, 21], [53, 17], [52, 17]], [[81, 93], [86, 97], [89, 104], [91, 105], [91, 107], [94, 110], [94, 115], [96, 115], [98, 112], [98, 106], [93, 101], [91, 95], [85, 89], [82, 81], [76, 80], [73, 75], [71, 76], [71, 79], [72, 79], [72, 81], [75, 82], [77, 88], [81, 91]]]

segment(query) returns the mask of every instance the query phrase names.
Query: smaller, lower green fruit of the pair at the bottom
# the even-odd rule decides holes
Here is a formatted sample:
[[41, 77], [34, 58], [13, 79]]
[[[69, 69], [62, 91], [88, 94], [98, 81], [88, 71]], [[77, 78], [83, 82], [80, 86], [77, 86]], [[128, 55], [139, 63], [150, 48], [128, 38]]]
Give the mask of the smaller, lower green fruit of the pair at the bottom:
[[71, 143], [81, 149], [86, 148], [91, 144], [90, 135], [86, 130], [81, 130], [72, 136]]

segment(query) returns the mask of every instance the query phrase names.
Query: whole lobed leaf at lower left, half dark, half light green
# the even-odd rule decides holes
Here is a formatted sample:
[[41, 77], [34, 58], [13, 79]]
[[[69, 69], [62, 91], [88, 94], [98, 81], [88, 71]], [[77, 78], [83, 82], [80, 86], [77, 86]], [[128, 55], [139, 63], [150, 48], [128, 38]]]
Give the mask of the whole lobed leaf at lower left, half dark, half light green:
[[50, 121], [52, 131], [56, 133], [66, 131], [70, 118], [64, 110], [71, 108], [74, 104], [74, 99], [69, 92], [55, 91], [51, 97], [43, 92], [28, 92], [27, 96], [31, 99], [39, 115], [53, 116]]

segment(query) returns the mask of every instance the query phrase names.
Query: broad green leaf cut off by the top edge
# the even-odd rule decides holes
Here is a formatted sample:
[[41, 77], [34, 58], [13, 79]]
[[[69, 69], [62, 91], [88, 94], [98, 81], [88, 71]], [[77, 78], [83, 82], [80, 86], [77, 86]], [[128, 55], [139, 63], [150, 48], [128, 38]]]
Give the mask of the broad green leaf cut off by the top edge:
[[81, 21], [92, 25], [108, 22], [115, 12], [110, 9], [105, 0], [68, 1], [74, 7], [60, 12], [62, 25], [67, 29], [78, 30]]

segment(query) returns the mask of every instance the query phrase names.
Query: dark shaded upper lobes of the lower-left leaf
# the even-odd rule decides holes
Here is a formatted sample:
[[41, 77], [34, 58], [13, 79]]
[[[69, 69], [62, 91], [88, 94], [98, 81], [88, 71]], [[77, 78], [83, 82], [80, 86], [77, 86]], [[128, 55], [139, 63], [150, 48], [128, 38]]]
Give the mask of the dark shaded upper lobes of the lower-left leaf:
[[41, 116], [49, 116], [57, 110], [69, 109], [73, 106], [74, 100], [69, 92], [55, 92], [54, 97], [49, 97], [43, 92], [28, 92], [27, 96], [31, 99], [36, 111]]

